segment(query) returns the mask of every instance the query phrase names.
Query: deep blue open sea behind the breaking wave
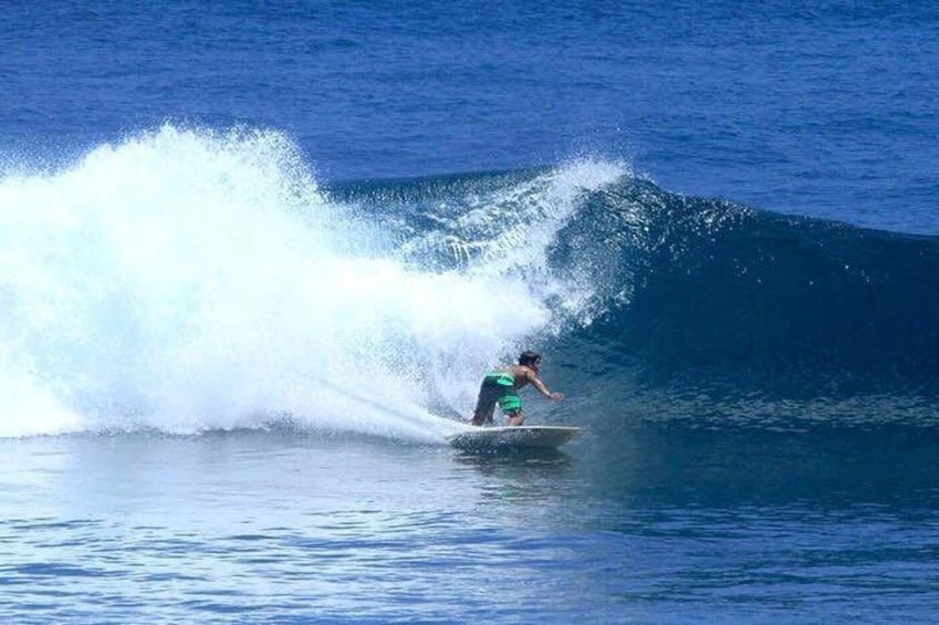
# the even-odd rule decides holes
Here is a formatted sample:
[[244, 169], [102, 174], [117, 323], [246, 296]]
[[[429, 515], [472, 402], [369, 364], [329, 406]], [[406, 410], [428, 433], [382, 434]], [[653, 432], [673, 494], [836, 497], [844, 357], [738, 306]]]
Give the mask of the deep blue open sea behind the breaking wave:
[[328, 179], [632, 159], [670, 190], [936, 233], [931, 2], [42, 3], [0, 17], [3, 147], [273, 127]]

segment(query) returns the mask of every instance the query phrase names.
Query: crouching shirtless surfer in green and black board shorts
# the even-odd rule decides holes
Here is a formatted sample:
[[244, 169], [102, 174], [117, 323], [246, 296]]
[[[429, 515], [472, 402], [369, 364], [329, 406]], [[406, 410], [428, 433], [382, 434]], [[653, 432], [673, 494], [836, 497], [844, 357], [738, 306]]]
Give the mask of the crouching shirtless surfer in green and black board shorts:
[[541, 356], [534, 352], [522, 352], [519, 364], [509, 365], [486, 374], [482, 385], [479, 387], [479, 398], [476, 403], [471, 425], [481, 426], [492, 423], [492, 413], [495, 404], [502, 408], [508, 417], [508, 425], [520, 426], [525, 421], [522, 414], [522, 399], [519, 389], [531, 384], [538, 390], [551, 399], [557, 402], [563, 399], [562, 393], [552, 393], [538, 376], [541, 368]]

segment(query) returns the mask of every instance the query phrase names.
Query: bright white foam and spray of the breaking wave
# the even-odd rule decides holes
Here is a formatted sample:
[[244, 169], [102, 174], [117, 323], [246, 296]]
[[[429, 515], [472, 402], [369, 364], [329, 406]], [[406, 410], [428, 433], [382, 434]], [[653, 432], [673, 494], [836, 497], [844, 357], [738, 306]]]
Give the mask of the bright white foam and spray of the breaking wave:
[[429, 406], [465, 414], [480, 371], [550, 323], [544, 249], [577, 189], [616, 171], [561, 168], [519, 223], [528, 256], [490, 241], [452, 272], [369, 250], [362, 219], [275, 132], [165, 126], [60, 171], [7, 174], [0, 436], [286, 414], [438, 440], [459, 424]]

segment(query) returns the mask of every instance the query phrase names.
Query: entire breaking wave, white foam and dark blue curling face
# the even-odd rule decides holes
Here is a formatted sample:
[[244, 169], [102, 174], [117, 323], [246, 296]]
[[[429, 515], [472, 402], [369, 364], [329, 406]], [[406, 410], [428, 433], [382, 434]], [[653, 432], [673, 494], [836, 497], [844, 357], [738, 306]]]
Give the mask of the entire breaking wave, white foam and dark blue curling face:
[[165, 126], [8, 166], [0, 271], [4, 436], [439, 441], [529, 346], [578, 421], [857, 415], [862, 394], [932, 419], [939, 389], [935, 238], [686, 198], [605, 159], [324, 188], [282, 134]]

